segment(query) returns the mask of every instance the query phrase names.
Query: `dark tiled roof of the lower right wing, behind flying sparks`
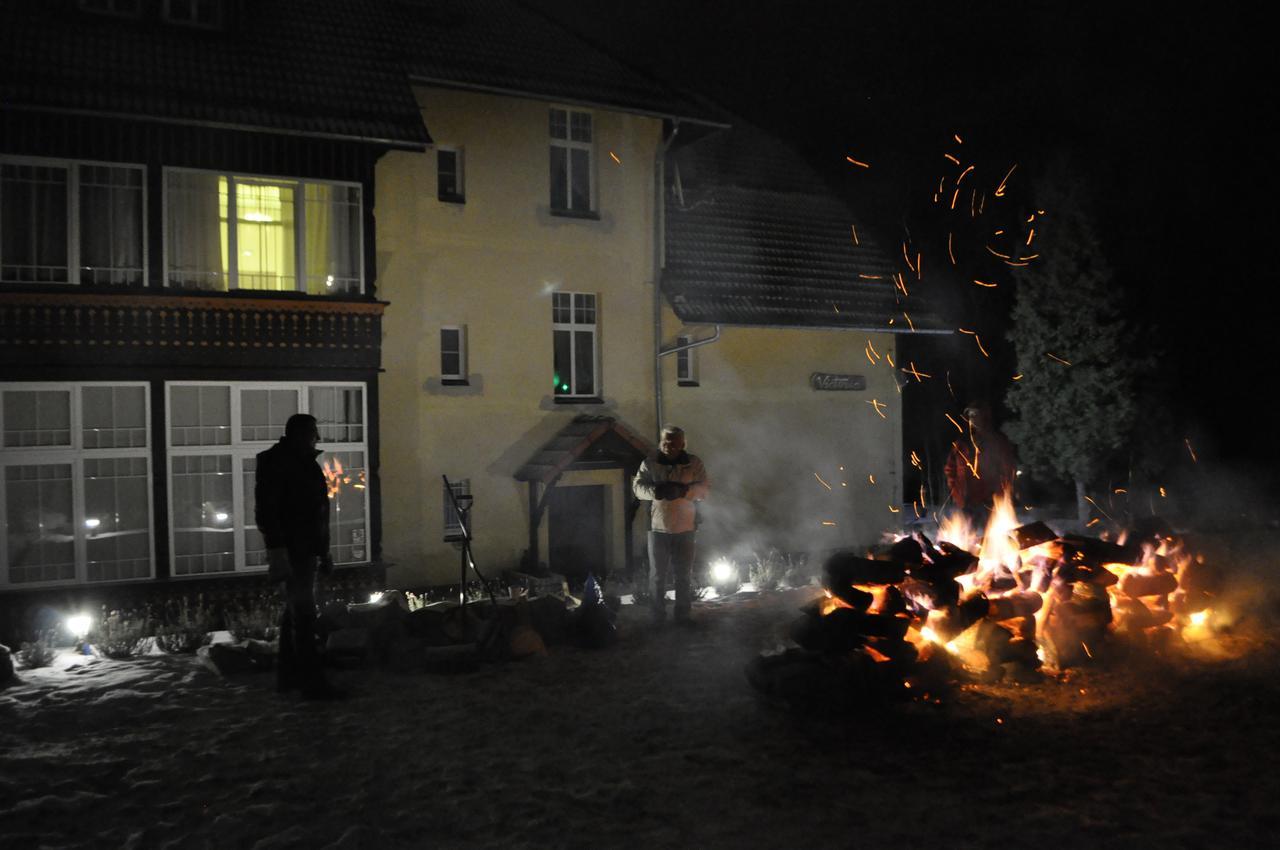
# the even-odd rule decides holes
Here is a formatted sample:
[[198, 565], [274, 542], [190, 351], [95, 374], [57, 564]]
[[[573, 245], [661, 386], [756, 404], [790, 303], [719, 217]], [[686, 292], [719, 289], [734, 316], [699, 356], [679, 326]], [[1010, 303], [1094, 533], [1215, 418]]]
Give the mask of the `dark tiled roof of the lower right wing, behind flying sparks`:
[[943, 329], [895, 284], [902, 262], [780, 140], [735, 123], [675, 161], [684, 191], [667, 195], [662, 288], [681, 321]]

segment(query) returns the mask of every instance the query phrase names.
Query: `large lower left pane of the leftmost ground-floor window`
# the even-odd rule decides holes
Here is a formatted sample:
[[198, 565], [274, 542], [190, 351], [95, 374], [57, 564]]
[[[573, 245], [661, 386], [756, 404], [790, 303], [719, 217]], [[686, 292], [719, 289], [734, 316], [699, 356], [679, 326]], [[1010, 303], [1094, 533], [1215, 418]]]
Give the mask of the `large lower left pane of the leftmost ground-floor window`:
[[72, 465], [5, 467], [4, 488], [9, 581], [76, 579]]

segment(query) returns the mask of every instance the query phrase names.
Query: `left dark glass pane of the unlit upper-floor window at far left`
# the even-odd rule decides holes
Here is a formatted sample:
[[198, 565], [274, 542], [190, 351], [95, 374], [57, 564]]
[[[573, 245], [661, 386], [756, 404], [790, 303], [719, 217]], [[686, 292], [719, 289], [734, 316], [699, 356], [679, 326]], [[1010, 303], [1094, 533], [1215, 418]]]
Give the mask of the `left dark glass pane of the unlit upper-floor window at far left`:
[[0, 280], [67, 283], [67, 169], [0, 165]]

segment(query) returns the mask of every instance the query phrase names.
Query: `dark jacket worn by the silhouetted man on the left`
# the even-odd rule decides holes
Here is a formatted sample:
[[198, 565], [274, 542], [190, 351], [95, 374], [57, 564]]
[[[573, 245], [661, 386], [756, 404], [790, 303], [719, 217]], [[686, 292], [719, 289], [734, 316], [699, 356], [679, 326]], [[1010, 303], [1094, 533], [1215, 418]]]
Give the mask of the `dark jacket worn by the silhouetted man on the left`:
[[287, 547], [291, 559], [329, 552], [329, 486], [319, 454], [283, 437], [257, 453], [253, 520], [266, 548]]

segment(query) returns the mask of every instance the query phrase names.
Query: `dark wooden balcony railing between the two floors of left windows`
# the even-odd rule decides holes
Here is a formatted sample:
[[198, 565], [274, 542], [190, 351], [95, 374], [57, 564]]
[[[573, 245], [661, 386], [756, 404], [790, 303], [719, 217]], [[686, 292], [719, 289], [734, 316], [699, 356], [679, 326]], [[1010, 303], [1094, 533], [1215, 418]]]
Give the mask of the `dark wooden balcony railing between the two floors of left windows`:
[[0, 364], [378, 369], [385, 302], [0, 292]]

